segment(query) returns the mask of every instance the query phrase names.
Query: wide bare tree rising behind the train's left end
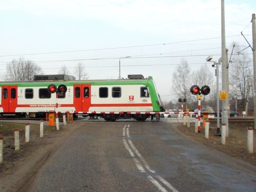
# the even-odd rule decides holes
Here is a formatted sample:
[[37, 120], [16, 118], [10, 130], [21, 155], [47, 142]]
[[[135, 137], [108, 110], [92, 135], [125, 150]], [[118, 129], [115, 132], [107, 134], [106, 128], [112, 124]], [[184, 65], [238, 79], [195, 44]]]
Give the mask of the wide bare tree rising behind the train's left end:
[[20, 57], [19, 60], [13, 59], [6, 65], [4, 74], [5, 81], [31, 81], [34, 75], [43, 75], [42, 68], [33, 61]]

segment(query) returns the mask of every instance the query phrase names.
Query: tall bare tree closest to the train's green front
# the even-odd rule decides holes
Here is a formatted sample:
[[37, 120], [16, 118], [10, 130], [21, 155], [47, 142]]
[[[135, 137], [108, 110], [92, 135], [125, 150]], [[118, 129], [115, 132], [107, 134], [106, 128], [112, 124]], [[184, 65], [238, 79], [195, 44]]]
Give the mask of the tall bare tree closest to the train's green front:
[[178, 65], [175, 68], [175, 72], [172, 74], [173, 76], [172, 88], [174, 92], [177, 93], [178, 97], [186, 98], [186, 99], [188, 98], [189, 75], [190, 75], [190, 69], [188, 67], [188, 62], [187, 60], [182, 59], [180, 62], [180, 65]]

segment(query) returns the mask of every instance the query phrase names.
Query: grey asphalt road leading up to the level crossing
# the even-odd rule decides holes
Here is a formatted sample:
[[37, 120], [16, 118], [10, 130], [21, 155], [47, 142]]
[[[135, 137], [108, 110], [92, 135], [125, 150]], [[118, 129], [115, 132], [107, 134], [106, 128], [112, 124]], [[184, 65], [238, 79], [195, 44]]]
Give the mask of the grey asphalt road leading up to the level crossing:
[[74, 129], [26, 191], [255, 192], [255, 166], [191, 141], [168, 121], [88, 121]]

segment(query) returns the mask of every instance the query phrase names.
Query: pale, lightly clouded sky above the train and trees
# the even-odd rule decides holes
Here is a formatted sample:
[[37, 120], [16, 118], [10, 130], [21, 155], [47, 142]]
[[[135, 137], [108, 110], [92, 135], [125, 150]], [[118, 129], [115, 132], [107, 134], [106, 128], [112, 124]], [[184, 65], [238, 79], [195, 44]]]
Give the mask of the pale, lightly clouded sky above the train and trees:
[[[225, 0], [228, 49], [248, 46], [241, 31], [252, 44], [253, 13], [254, 0]], [[80, 61], [89, 79], [117, 79], [120, 60], [121, 77], [152, 76], [170, 101], [182, 59], [191, 72], [208, 63], [215, 74], [205, 59], [221, 57], [221, 0], [0, 0], [0, 39], [1, 74], [24, 57], [45, 75], [64, 65], [72, 74]]]

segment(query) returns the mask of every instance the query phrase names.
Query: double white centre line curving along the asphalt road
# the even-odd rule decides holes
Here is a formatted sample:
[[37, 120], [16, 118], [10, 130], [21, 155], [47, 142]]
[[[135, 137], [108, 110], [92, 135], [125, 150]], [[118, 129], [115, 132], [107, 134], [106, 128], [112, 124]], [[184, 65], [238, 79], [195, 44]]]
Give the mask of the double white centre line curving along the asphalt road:
[[[142, 163], [144, 164], [144, 166], [148, 169], [149, 172], [155, 173], [154, 170], [151, 170], [148, 163], [146, 162], [146, 160], [141, 156], [141, 154], [139, 153], [139, 151], [137, 150], [137, 148], [133, 145], [131, 139], [130, 139], [130, 132], [129, 132], [129, 127], [130, 125], [126, 125], [123, 127], [123, 143], [125, 148], [128, 150], [128, 152], [130, 153], [130, 155], [132, 157], [135, 157], [134, 153], [132, 152], [132, 150], [135, 152], [135, 154], [140, 158], [140, 160], [142, 161]], [[125, 130], [126, 130], [126, 135], [125, 135]], [[126, 138], [131, 146], [131, 148], [129, 147], [129, 145], [126, 142]], [[140, 172], [145, 172], [148, 176], [148, 180], [150, 180], [160, 191], [163, 192], [167, 192], [167, 190], [157, 181], [155, 180], [151, 175], [149, 175], [145, 169], [143, 168], [143, 165], [139, 162], [139, 160], [137, 158], [133, 158], [135, 165], [137, 166], [137, 168], [139, 169]], [[175, 189], [168, 181], [166, 181], [164, 178], [162, 178], [161, 176], [156, 174], [156, 178], [158, 180], [160, 180], [166, 187], [168, 187], [169, 189], [172, 190], [172, 192], [179, 192], [177, 189]]]

